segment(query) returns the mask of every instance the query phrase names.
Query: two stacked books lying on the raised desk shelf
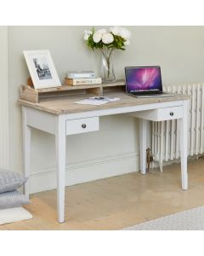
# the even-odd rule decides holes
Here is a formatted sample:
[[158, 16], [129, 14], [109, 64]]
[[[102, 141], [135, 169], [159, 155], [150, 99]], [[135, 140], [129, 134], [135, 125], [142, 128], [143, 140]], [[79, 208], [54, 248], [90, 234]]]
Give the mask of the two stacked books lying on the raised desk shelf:
[[101, 83], [102, 79], [96, 77], [93, 71], [68, 72], [65, 77], [65, 84], [68, 85], [90, 85]]

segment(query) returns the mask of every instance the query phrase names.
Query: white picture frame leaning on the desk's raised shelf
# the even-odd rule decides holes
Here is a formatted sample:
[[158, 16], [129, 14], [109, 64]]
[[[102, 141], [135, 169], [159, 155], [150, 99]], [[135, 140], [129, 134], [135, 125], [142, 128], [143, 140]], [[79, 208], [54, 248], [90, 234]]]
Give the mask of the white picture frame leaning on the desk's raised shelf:
[[61, 86], [48, 49], [24, 50], [23, 54], [35, 89]]

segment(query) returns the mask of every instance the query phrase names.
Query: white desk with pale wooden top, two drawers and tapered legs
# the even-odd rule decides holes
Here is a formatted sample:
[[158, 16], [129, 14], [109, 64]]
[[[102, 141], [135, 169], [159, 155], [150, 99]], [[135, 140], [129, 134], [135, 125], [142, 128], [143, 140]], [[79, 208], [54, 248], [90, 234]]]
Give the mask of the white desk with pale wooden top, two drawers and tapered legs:
[[[84, 96], [69, 96], [43, 100], [40, 103], [19, 100], [23, 117], [24, 170], [30, 176], [31, 127], [46, 131], [55, 136], [57, 159], [57, 201], [59, 223], [65, 220], [65, 140], [71, 134], [99, 131], [99, 118], [113, 114], [131, 114], [139, 117], [140, 172], [146, 172], [146, 131], [148, 120], [179, 119], [181, 181], [182, 188], [188, 189], [187, 174], [187, 108], [189, 96], [178, 95], [167, 98], [134, 98], [125, 93], [111, 93], [106, 96], [121, 98], [118, 102], [91, 106], [74, 104]], [[25, 193], [29, 195], [29, 182]]]

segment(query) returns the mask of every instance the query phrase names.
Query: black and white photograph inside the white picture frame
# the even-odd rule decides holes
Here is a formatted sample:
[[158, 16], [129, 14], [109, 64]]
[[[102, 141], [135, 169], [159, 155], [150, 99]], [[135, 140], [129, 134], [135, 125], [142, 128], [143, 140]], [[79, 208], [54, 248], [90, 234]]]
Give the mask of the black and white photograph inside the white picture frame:
[[48, 61], [45, 57], [34, 58], [33, 62], [35, 64], [37, 75], [40, 80], [42, 79], [52, 79], [50, 69], [48, 67]]

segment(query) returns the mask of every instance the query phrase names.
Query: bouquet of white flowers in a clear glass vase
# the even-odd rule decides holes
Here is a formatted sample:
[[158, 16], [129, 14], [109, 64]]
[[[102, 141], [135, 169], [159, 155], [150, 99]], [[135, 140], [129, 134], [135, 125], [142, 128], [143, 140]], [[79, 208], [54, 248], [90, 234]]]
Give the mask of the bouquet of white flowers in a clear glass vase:
[[104, 72], [104, 81], [115, 80], [115, 73], [111, 63], [111, 54], [114, 49], [125, 50], [130, 44], [131, 32], [122, 26], [113, 26], [107, 31], [102, 28], [97, 31], [92, 30], [84, 32], [84, 40], [87, 41], [91, 49], [99, 49], [102, 54], [102, 67]]

